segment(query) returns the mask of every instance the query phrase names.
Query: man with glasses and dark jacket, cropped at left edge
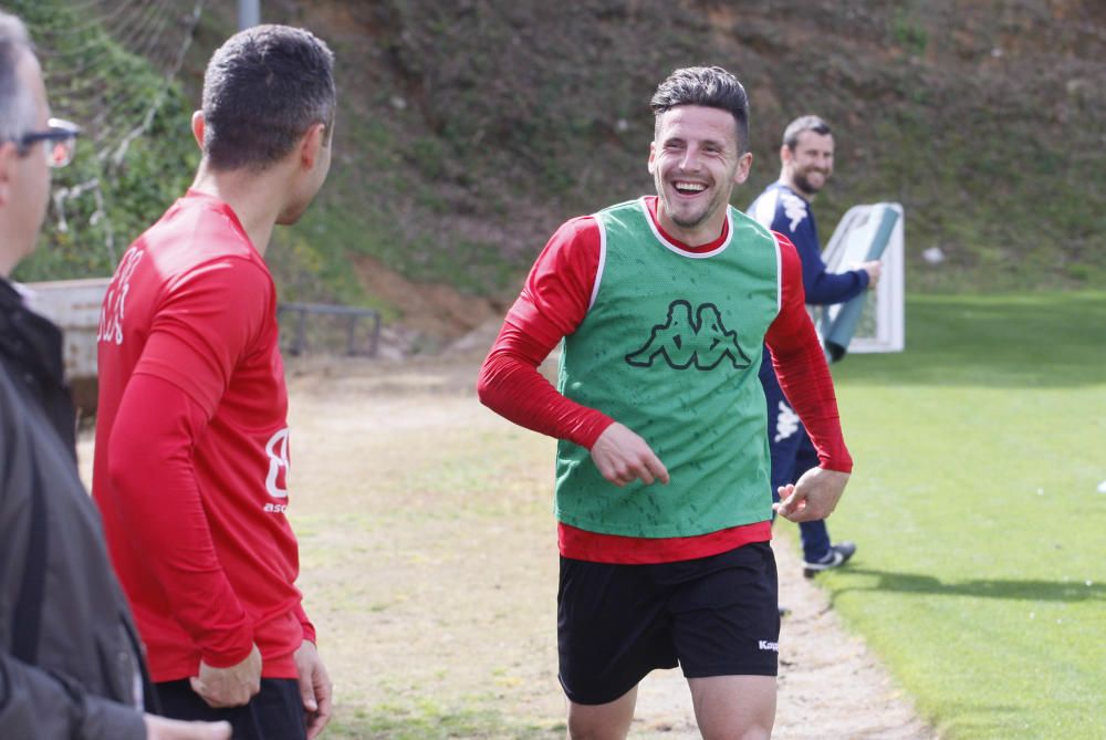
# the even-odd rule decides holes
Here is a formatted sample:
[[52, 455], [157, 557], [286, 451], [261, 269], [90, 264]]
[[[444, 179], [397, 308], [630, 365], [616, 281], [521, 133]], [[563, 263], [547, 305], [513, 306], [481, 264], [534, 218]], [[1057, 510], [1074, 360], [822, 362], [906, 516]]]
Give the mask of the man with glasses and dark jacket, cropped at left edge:
[[77, 478], [61, 332], [8, 280], [75, 136], [49, 119], [27, 31], [0, 12], [0, 738], [229, 738], [143, 713], [137, 633]]

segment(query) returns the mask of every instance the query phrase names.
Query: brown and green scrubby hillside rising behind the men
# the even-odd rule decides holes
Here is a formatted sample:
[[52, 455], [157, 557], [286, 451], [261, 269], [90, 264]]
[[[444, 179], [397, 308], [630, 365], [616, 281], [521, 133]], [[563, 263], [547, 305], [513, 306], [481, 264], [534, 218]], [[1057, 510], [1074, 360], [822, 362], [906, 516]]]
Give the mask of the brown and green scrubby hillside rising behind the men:
[[[82, 34], [56, 32], [74, 27], [58, 12], [71, 0], [11, 4], [50, 52], [51, 75], [80, 59], [85, 37], [109, 50], [121, 66], [101, 77], [107, 101], [113, 88], [148, 88], [134, 97], [153, 100], [158, 73], [129, 54], [157, 61], [180, 45], [180, 33], [149, 49], [101, 40], [91, 21], [117, 29], [125, 3], [80, 3]], [[168, 4], [177, 17], [194, 8]], [[1079, 288], [1106, 275], [1106, 6], [1095, 0], [262, 6], [265, 20], [311, 28], [338, 58], [331, 181], [271, 251], [290, 299], [373, 302], [364, 257], [417, 281], [509, 298], [561, 221], [651, 188], [649, 96], [671, 69], [699, 63], [734, 71], [752, 97], [757, 160], [735, 205], [776, 176], [783, 125], [817, 112], [838, 143], [837, 177], [818, 205], [824, 238], [853, 204], [902, 202], [911, 290]], [[115, 253], [187, 183], [187, 111], [233, 25], [233, 3], [207, 3], [177, 75], [185, 92], [170, 88], [123, 165], [85, 161], [92, 169], [66, 174], [107, 184]], [[55, 41], [67, 44], [56, 58]], [[97, 111], [67, 108], [56, 85], [53, 94], [82, 123]], [[81, 157], [92, 159], [87, 146]], [[93, 201], [79, 202], [86, 217]], [[114, 253], [103, 221], [77, 221], [69, 233], [52, 229], [21, 277], [106, 273]], [[929, 247], [948, 260], [926, 264]]]

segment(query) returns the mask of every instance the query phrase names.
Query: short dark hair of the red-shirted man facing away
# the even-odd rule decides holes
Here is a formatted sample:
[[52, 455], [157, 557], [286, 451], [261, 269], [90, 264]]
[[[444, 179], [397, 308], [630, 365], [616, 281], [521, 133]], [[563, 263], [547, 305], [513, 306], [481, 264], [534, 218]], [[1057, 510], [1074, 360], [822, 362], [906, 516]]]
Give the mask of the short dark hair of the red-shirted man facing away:
[[204, 74], [204, 154], [220, 170], [262, 170], [311, 126], [334, 121], [334, 54], [288, 25], [236, 33]]

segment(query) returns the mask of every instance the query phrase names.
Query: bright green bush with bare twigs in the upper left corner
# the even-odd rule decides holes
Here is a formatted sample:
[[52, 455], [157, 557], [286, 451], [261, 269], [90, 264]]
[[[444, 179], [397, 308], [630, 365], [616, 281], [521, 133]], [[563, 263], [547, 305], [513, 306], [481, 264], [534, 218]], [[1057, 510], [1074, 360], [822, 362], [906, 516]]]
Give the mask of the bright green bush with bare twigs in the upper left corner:
[[189, 133], [192, 105], [166, 82], [189, 38], [191, 8], [180, 3], [180, 12], [167, 13], [155, 4], [124, 14], [106, 2], [4, 7], [29, 27], [53, 115], [84, 129], [73, 163], [54, 173], [40, 249], [15, 277], [108, 275], [127, 244], [188, 186], [199, 161]]

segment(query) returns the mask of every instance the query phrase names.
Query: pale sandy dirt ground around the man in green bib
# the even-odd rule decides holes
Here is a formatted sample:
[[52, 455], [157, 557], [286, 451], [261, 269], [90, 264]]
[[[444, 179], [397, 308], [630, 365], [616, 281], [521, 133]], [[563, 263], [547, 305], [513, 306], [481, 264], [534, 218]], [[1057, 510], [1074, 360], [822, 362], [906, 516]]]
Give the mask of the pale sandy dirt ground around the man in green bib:
[[[563, 737], [553, 444], [479, 405], [478, 362], [289, 365], [290, 512], [335, 682], [330, 738]], [[775, 737], [935, 738], [800, 576], [791, 540], [776, 556], [792, 614]], [[678, 670], [643, 684], [630, 737], [698, 737]]]

